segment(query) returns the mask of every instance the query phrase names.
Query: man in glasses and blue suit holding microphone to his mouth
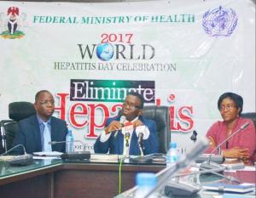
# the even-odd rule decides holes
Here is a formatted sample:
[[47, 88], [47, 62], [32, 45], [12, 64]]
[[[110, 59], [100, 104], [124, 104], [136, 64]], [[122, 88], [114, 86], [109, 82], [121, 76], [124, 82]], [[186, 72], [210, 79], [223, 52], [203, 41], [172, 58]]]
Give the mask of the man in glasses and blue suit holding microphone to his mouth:
[[[96, 153], [119, 155], [141, 155], [138, 144], [138, 129], [143, 133], [143, 154], [158, 152], [158, 139], [156, 123], [141, 116], [143, 113], [143, 97], [138, 93], [128, 93], [123, 107], [122, 115], [109, 118], [102, 134], [96, 139], [94, 150]], [[129, 138], [123, 133], [127, 122], [131, 124]], [[128, 124], [128, 125], [129, 125]], [[123, 130], [122, 130], [123, 127]]]

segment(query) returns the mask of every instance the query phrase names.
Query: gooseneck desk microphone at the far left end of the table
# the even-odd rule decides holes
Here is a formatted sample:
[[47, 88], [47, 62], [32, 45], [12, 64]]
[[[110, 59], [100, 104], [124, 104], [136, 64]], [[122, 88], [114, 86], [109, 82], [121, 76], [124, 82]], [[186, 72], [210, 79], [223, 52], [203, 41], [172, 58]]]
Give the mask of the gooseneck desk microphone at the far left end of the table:
[[24, 155], [22, 155], [22, 156], [14, 156], [13, 159], [9, 160], [9, 164], [10, 164], [10, 165], [15, 165], [15, 166], [27, 166], [27, 165], [32, 164], [32, 162], [33, 162], [33, 157], [32, 157], [31, 154], [27, 154], [27, 153], [26, 153], [25, 146], [24, 146], [23, 144], [17, 144], [17, 145], [15, 145], [15, 147], [13, 147], [13, 148], [10, 149], [10, 150], [7, 150], [7, 151], [4, 152], [1, 156], [5, 155], [5, 154], [8, 154], [9, 151], [15, 150], [17, 147], [20, 147], [20, 146], [23, 148]]

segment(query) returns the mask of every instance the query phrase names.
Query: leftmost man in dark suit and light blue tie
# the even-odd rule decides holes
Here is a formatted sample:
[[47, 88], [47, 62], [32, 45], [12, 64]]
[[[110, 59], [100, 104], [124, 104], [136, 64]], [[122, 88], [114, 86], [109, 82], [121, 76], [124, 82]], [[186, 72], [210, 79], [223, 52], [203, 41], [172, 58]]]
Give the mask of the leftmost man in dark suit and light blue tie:
[[[67, 123], [52, 116], [55, 111], [53, 95], [47, 90], [39, 91], [35, 96], [34, 107], [37, 114], [18, 123], [14, 146], [23, 144], [29, 154], [38, 151], [65, 152], [65, 144], [48, 144], [49, 141], [65, 141], [67, 135]], [[14, 153], [23, 154], [23, 150], [17, 147]]]

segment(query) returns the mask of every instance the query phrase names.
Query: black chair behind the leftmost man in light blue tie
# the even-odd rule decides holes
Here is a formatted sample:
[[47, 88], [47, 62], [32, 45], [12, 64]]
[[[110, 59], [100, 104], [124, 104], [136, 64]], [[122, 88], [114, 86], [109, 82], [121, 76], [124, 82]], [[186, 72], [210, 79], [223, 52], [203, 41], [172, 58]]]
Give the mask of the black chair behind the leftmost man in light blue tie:
[[[1, 152], [9, 150], [14, 142], [15, 133], [18, 130], [20, 120], [36, 114], [34, 105], [30, 102], [13, 102], [9, 104], [9, 118], [11, 120], [1, 121]], [[2, 147], [2, 148], [1, 148]]]

